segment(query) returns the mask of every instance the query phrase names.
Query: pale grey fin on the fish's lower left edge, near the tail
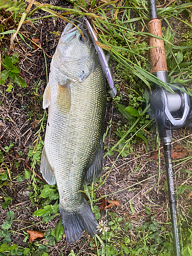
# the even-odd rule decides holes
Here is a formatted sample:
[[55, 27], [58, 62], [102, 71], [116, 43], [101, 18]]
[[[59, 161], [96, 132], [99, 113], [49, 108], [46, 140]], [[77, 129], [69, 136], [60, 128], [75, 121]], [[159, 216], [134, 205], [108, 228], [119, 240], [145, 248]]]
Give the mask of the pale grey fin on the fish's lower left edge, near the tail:
[[55, 184], [54, 169], [51, 167], [47, 159], [45, 147], [42, 149], [40, 172], [42, 174], [42, 177], [44, 178], [44, 180], [47, 181], [48, 184], [50, 185]]

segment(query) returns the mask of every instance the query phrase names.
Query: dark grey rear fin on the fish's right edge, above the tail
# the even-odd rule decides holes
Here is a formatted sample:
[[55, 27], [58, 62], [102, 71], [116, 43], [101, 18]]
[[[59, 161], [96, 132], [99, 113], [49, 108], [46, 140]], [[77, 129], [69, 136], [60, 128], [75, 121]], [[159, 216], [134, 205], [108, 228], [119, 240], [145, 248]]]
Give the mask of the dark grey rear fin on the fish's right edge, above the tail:
[[90, 167], [84, 175], [84, 182], [87, 184], [94, 182], [102, 174], [103, 169], [103, 142], [100, 140], [97, 154], [92, 160]]

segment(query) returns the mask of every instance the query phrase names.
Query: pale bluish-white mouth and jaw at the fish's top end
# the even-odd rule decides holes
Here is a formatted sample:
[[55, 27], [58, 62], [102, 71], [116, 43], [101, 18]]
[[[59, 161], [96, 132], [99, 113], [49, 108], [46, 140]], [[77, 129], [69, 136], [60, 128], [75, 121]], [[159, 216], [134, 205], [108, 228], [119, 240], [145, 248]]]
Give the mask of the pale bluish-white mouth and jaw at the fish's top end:
[[72, 23], [67, 24], [60, 38], [63, 44], [67, 45], [76, 38], [77, 27], [80, 27], [80, 24], [76, 27]]

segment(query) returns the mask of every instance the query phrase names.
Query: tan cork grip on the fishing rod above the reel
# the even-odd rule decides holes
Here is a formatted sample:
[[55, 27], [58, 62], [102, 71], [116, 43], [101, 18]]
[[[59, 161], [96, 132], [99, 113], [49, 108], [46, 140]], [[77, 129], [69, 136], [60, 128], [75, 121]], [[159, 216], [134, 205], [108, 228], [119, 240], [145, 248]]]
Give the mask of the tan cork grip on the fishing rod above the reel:
[[[155, 18], [148, 23], [148, 30], [151, 34], [162, 37], [161, 20]], [[165, 56], [164, 42], [150, 36], [150, 59], [151, 59], [151, 73], [158, 71], [167, 71], [167, 63]]]

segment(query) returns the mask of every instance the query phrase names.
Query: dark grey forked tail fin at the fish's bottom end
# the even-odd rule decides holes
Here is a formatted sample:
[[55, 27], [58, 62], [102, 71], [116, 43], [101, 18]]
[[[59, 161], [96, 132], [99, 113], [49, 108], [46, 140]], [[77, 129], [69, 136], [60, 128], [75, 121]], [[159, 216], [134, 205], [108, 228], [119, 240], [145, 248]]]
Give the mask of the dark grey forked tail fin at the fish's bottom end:
[[66, 211], [60, 204], [59, 210], [69, 244], [77, 242], [81, 238], [83, 230], [86, 230], [92, 237], [97, 233], [98, 223], [86, 199], [78, 210]]

